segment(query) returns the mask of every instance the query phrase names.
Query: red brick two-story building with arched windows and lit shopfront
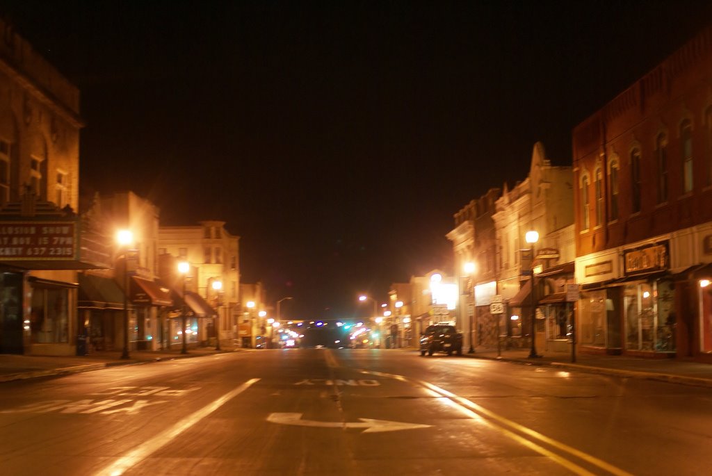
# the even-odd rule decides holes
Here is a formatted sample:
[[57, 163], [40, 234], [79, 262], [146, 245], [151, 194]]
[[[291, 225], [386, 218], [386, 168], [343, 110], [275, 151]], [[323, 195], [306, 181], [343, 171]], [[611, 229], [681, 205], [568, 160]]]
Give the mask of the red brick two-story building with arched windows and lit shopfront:
[[712, 28], [572, 143], [580, 347], [711, 357]]

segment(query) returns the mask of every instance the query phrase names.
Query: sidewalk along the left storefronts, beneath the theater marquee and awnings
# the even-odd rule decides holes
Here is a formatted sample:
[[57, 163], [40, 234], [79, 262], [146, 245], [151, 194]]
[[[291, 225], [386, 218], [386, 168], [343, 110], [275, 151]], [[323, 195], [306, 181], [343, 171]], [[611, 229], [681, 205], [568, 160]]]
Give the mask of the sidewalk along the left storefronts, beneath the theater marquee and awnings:
[[0, 354], [0, 383], [43, 376], [78, 374], [119, 365], [147, 364], [172, 359], [186, 359], [232, 352], [232, 344], [214, 347], [196, 347], [181, 354], [180, 349], [162, 351], [131, 351], [129, 359], [121, 359], [121, 351], [93, 351], [87, 356], [30, 356]]

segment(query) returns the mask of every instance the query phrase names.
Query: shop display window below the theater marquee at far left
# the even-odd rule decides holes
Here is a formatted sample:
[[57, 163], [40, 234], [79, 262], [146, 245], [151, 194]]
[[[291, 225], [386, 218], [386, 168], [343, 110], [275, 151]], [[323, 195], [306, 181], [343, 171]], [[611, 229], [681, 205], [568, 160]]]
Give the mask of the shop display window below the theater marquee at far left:
[[31, 298], [31, 339], [36, 344], [68, 342], [68, 290], [35, 287]]

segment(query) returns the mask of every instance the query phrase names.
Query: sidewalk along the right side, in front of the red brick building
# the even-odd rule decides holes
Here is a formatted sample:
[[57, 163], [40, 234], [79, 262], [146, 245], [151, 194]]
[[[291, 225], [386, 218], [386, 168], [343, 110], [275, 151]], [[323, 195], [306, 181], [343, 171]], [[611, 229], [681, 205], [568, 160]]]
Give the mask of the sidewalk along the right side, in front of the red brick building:
[[538, 351], [539, 356], [530, 359], [530, 349], [503, 350], [498, 356], [496, 349], [475, 349], [463, 356], [473, 359], [492, 359], [535, 366], [552, 366], [570, 371], [592, 374], [625, 376], [634, 379], [648, 379], [712, 388], [712, 364], [678, 359], [644, 359], [640, 357], [576, 354], [572, 362], [571, 354], [563, 352]]

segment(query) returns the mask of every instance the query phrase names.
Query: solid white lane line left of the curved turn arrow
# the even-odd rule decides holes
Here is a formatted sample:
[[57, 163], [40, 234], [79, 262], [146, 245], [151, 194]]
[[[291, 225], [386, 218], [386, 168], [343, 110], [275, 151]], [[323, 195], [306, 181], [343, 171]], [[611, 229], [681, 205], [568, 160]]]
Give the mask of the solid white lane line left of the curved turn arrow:
[[157, 450], [170, 443], [174, 438], [183, 433], [185, 430], [188, 430], [193, 425], [208, 416], [210, 413], [213, 413], [225, 403], [228, 403], [240, 393], [246, 391], [248, 388], [250, 388], [250, 386], [252, 386], [259, 380], [260, 379], [250, 379], [241, 386], [234, 388], [228, 393], [225, 393], [224, 396], [217, 398], [215, 401], [209, 403], [208, 405], [204, 406], [195, 413], [192, 413], [192, 415], [187, 416], [179, 423], [173, 425], [171, 428], [167, 428], [167, 430], [163, 430], [161, 433], [158, 433], [150, 440], [145, 441], [144, 443], [142, 443], [142, 445], [131, 450], [127, 455], [118, 458], [117, 460], [115, 460], [115, 462], [112, 462], [112, 464], [96, 472], [95, 475], [119, 476], [124, 474], [124, 472], [130, 470], [139, 462], [145, 460], [145, 458], [147, 458], [149, 455], [155, 453]]

